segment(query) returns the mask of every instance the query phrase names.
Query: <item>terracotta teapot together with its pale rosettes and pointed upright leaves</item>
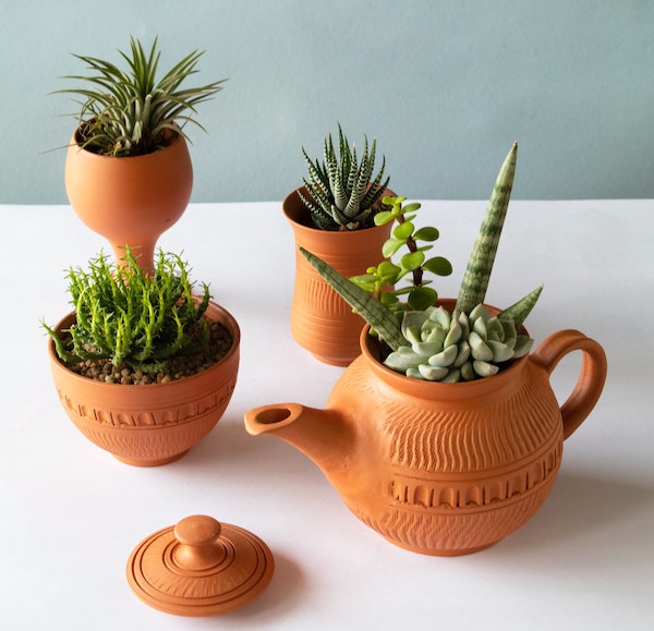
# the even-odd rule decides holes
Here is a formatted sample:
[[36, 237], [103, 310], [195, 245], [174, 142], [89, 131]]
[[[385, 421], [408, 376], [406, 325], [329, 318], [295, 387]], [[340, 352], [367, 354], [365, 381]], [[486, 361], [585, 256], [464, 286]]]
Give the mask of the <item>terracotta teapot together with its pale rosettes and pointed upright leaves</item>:
[[[528, 354], [522, 321], [541, 288], [504, 311], [483, 304], [516, 157], [517, 145], [457, 300], [391, 310], [305, 252], [368, 323], [362, 355], [325, 410], [283, 403], [245, 415], [251, 434], [271, 433], [303, 450], [356, 517], [413, 551], [474, 553], [524, 524], [552, 490], [564, 439], [604, 386], [604, 351], [580, 331], [558, 331]], [[572, 351], [582, 352], [581, 372], [559, 405], [549, 375]]]

